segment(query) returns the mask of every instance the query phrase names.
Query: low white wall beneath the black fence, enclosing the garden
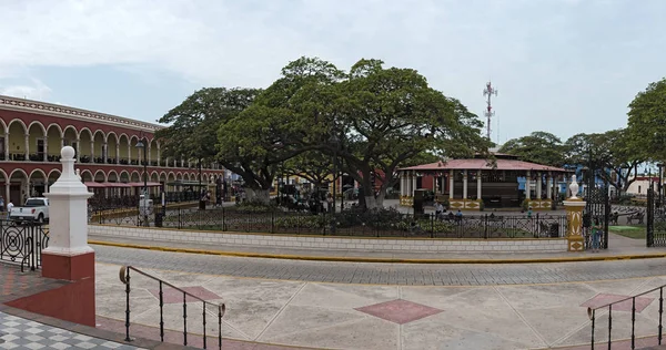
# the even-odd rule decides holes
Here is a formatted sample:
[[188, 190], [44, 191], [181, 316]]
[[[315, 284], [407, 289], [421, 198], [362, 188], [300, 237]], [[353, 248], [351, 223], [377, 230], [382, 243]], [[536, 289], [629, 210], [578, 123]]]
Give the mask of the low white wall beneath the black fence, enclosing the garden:
[[137, 239], [170, 240], [195, 244], [287, 247], [297, 249], [374, 250], [374, 251], [567, 251], [566, 238], [507, 238], [507, 239], [454, 239], [454, 238], [349, 238], [322, 236], [290, 236], [270, 234], [239, 234], [220, 231], [192, 231], [165, 228], [141, 228], [112, 225], [89, 225], [91, 235], [128, 237]]

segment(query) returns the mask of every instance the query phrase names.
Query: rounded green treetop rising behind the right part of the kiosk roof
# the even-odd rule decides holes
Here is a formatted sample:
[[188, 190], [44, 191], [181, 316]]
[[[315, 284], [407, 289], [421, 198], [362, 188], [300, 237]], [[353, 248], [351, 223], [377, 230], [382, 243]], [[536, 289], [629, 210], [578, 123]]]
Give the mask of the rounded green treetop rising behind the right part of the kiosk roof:
[[564, 165], [565, 151], [562, 140], [547, 132], [512, 138], [500, 148], [501, 153], [517, 155], [522, 161], [551, 166]]

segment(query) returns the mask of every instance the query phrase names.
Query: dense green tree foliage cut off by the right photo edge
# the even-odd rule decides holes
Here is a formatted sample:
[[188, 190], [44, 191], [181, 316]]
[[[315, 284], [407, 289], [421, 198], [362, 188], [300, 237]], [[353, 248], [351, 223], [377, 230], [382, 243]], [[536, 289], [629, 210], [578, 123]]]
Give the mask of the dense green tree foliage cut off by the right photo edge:
[[636, 95], [628, 116], [630, 152], [647, 161], [666, 161], [666, 78]]

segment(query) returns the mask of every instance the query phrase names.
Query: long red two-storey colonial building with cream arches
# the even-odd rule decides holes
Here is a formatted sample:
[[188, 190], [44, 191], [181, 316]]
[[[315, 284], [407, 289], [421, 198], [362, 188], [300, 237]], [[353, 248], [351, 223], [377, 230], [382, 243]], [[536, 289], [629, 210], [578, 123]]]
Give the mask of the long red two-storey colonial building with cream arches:
[[[224, 176], [216, 165], [165, 158], [154, 132], [163, 126], [115, 115], [0, 95], [0, 195], [14, 204], [39, 196], [60, 176], [60, 150], [77, 151], [77, 168], [90, 188], [107, 195], [137, 193], [149, 186], [157, 193], [178, 191], [180, 184], [213, 184]], [[140, 143], [141, 141], [141, 143]], [[148, 147], [144, 151], [141, 145]], [[145, 162], [145, 163], [144, 163]], [[7, 200], [7, 199], [6, 199]]]

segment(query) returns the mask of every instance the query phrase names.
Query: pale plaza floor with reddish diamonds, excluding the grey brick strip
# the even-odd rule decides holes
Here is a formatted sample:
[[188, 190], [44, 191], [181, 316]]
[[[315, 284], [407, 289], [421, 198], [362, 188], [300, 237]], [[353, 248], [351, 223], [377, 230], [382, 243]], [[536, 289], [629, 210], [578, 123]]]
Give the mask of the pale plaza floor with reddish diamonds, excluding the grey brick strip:
[[[137, 257], [141, 254], [134, 253]], [[102, 329], [111, 330], [111, 323], [122, 325], [124, 320], [125, 294], [118, 279], [119, 269], [118, 265], [97, 265], [98, 323]], [[157, 268], [145, 271], [188, 287], [208, 301], [224, 302], [222, 333], [226, 343], [235, 339], [320, 349], [589, 348], [587, 306], [666, 285], [666, 276], [542, 285], [390, 286], [239, 278]], [[130, 294], [132, 329], [143, 327], [157, 334], [157, 282], [134, 276]], [[189, 301], [186, 309], [190, 338], [201, 337], [201, 303]], [[656, 343], [658, 310], [658, 291], [637, 300], [635, 329], [640, 346]], [[182, 299], [165, 303], [163, 315], [169, 331], [182, 332]], [[630, 338], [630, 305], [614, 308], [614, 349], [628, 343], [623, 340]], [[596, 322], [595, 339], [605, 341], [608, 312], [598, 311]], [[206, 332], [216, 334], [216, 322], [206, 323]]]

